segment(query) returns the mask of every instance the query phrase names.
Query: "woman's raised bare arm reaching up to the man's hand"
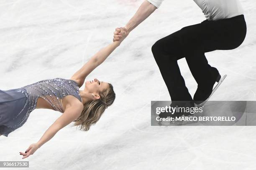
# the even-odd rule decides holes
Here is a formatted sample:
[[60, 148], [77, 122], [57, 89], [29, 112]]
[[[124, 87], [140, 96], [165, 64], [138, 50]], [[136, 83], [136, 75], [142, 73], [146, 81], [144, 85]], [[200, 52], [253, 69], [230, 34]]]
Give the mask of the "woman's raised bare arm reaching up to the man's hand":
[[120, 45], [120, 43], [125, 37], [125, 31], [125, 29], [121, 30], [123, 38], [121, 38], [119, 41], [112, 42], [108, 46], [102, 48], [99, 52], [93, 55], [92, 58], [87, 63], [85, 63], [82, 68], [80, 68], [77, 72], [74, 73], [71, 79], [76, 80], [76, 82], [78, 82], [79, 84], [79, 87], [81, 87], [84, 84], [84, 80], [87, 77], [87, 75], [89, 75], [90, 72], [92, 72], [104, 60], [106, 60], [106, 58], [115, 50], [115, 48]]

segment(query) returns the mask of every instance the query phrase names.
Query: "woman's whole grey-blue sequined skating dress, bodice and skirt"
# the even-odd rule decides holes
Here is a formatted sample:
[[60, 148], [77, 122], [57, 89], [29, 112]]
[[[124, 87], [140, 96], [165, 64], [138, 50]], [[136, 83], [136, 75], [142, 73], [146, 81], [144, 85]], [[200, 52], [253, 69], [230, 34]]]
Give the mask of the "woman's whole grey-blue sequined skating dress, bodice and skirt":
[[73, 95], [82, 102], [77, 82], [63, 78], [41, 80], [12, 90], [0, 90], [0, 134], [7, 137], [20, 128], [36, 108], [38, 97], [49, 102], [54, 110], [63, 113], [61, 99], [67, 95]]

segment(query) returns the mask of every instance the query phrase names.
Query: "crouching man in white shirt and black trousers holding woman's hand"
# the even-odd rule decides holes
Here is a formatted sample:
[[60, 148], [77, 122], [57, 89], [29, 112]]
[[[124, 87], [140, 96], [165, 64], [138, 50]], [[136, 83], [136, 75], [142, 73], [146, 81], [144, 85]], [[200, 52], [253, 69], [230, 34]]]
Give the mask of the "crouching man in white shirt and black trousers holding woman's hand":
[[[202, 104], [212, 93], [220, 74], [211, 67], [205, 52], [231, 50], [240, 46], [246, 37], [246, 22], [238, 0], [194, 0], [207, 18], [199, 24], [190, 25], [172, 33], [152, 46], [152, 52], [161, 75], [168, 88], [172, 104], [195, 107]], [[136, 14], [125, 25], [127, 36], [143, 20], [158, 8], [163, 0], [144, 0]], [[172, 24], [172, 22], [170, 22]], [[116, 28], [113, 41], [118, 41], [120, 28]], [[185, 57], [190, 71], [197, 82], [192, 99], [179, 70], [177, 60]], [[177, 102], [188, 101], [188, 102]], [[190, 116], [190, 113], [162, 112], [160, 117]]]

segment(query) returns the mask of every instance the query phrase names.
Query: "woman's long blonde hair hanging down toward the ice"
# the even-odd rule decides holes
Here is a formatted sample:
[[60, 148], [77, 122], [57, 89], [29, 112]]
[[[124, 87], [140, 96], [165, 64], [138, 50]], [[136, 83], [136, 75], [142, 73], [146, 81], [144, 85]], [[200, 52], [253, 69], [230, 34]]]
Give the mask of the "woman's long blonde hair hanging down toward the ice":
[[92, 100], [84, 104], [81, 115], [75, 120], [73, 126], [80, 126], [80, 130], [87, 131], [91, 125], [94, 125], [101, 117], [102, 113], [113, 104], [115, 92], [113, 85], [108, 83], [109, 87], [100, 93], [100, 99]]

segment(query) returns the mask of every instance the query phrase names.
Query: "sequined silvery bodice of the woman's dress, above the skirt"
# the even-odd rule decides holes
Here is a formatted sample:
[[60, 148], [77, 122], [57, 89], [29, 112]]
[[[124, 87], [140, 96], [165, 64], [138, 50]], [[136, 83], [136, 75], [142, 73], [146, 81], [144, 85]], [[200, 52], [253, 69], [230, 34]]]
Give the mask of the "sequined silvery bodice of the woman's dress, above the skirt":
[[79, 87], [74, 80], [64, 78], [54, 78], [51, 80], [41, 80], [30, 85], [21, 87], [20, 92], [25, 93], [28, 97], [28, 104], [31, 111], [36, 108], [38, 97], [43, 98], [59, 112], [64, 112], [61, 100], [67, 95], [73, 95], [78, 100], [81, 100], [79, 95]]

